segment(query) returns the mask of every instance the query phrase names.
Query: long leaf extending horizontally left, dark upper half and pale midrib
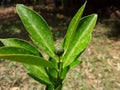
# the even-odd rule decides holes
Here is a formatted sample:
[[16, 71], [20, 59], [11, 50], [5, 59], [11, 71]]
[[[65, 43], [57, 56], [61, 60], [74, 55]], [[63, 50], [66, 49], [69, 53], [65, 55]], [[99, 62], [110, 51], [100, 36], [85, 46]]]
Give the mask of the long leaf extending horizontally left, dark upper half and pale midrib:
[[16, 61], [25, 64], [50, 67], [53, 68], [53, 64], [42, 57], [34, 56], [33, 53], [23, 48], [18, 47], [1, 47], [0, 59], [6, 59], [10, 61]]

